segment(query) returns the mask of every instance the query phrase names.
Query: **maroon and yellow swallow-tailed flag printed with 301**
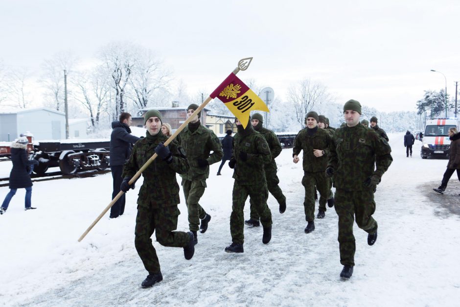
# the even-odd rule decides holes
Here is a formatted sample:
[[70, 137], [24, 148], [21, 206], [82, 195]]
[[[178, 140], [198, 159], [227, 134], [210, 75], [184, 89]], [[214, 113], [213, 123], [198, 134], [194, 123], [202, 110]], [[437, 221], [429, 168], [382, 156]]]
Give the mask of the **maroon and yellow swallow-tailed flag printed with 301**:
[[251, 111], [270, 112], [265, 102], [233, 72], [209, 96], [219, 98], [245, 128]]

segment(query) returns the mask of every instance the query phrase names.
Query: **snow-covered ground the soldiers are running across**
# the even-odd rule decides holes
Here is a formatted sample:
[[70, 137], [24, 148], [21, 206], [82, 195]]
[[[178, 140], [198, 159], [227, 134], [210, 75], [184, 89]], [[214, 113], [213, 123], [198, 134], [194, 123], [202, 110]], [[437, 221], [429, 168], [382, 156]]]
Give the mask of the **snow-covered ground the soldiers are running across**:
[[[111, 201], [112, 177], [34, 183], [32, 205], [23, 211], [24, 189], [0, 216], [0, 305], [18, 306], [459, 306], [460, 184], [454, 175], [446, 194], [435, 193], [446, 160], [422, 160], [419, 141], [406, 158], [403, 134], [390, 134], [393, 164], [375, 193], [379, 237], [368, 246], [355, 225], [354, 273], [341, 281], [337, 214], [328, 208], [305, 234], [301, 163], [292, 149], [276, 159], [287, 210], [273, 214], [273, 237], [245, 227], [245, 252], [227, 254], [231, 190], [228, 165], [211, 175], [201, 204], [212, 219], [199, 234], [195, 256], [154, 241], [163, 281], [142, 289], [147, 275], [134, 247], [136, 190], [127, 193], [125, 214], [104, 216], [77, 242]], [[11, 164], [0, 162], [0, 177]], [[8, 192], [0, 188], [0, 201]], [[178, 230], [187, 230], [181, 191]], [[317, 212], [318, 209], [316, 209]], [[245, 208], [249, 218], [249, 201]]]

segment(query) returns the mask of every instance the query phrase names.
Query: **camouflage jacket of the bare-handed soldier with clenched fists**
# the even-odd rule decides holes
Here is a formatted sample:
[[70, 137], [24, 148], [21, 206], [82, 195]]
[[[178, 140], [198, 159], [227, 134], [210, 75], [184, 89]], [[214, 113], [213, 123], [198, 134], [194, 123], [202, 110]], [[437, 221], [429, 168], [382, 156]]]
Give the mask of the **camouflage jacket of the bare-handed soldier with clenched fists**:
[[[307, 131], [308, 128], [304, 128], [297, 134], [294, 140], [293, 156], [299, 156], [300, 151], [303, 150], [303, 171], [325, 171], [327, 156], [329, 155], [330, 146], [332, 144], [332, 136], [329, 131], [321, 129], [320, 127], [318, 127], [318, 130], [313, 136], [309, 136]], [[319, 158], [315, 157], [313, 149], [324, 150], [324, 155]]]

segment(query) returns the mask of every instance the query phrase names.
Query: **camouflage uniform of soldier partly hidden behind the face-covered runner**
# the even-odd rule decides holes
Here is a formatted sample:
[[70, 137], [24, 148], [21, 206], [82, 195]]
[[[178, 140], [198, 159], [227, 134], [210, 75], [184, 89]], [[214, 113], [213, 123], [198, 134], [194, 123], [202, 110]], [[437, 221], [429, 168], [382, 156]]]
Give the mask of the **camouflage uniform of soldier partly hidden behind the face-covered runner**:
[[[270, 148], [270, 153], [272, 155], [272, 161], [264, 165], [268, 191], [273, 195], [273, 197], [275, 197], [278, 204], [285, 203], [286, 197], [283, 195], [283, 191], [278, 186], [279, 179], [278, 179], [278, 176], [276, 175], [277, 166], [275, 162], [275, 158], [279, 156], [282, 150], [281, 143], [279, 142], [276, 134], [269, 129], [260, 128], [259, 130], [257, 130], [257, 132], [259, 132], [265, 138], [265, 141], [267, 141], [268, 147]], [[257, 211], [254, 208], [253, 199], [251, 198], [249, 202], [251, 204], [250, 217], [253, 220], [258, 221], [259, 214], [257, 214]]]

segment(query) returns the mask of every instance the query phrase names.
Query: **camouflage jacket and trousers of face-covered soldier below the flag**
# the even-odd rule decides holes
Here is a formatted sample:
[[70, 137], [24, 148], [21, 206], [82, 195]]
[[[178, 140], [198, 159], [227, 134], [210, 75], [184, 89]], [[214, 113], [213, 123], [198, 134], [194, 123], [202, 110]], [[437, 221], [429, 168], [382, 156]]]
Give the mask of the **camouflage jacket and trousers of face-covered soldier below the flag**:
[[[232, 242], [239, 244], [244, 243], [243, 209], [248, 195], [256, 212], [260, 215], [262, 226], [272, 226], [272, 212], [267, 206], [267, 181], [264, 167], [262, 167], [272, 161], [270, 148], [265, 138], [253, 130], [251, 123], [246, 127], [245, 135], [241, 134], [238, 132], [233, 138], [233, 156], [231, 157], [236, 160], [236, 165], [232, 176], [235, 182], [232, 192], [230, 233]], [[241, 159], [241, 153], [248, 155], [246, 161]]]

